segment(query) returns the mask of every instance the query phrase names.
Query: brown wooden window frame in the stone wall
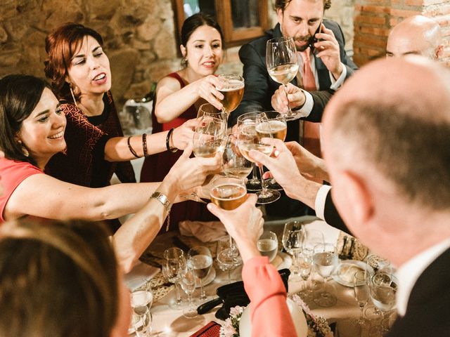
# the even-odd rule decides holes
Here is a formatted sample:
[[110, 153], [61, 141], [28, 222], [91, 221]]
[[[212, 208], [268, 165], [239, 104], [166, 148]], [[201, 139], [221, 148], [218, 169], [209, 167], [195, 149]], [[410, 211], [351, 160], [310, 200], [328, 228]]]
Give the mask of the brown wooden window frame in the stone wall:
[[[175, 23], [178, 37], [181, 34], [181, 27], [183, 26], [186, 16], [184, 15], [184, 1], [172, 0], [174, 4]], [[240, 46], [252, 39], [262, 37], [266, 29], [269, 29], [269, 8], [267, 0], [258, 0], [259, 6], [259, 26], [250, 28], [234, 28], [231, 17], [231, 0], [214, 0], [216, 8], [216, 18], [222, 32], [224, 33], [224, 43], [226, 47]]]

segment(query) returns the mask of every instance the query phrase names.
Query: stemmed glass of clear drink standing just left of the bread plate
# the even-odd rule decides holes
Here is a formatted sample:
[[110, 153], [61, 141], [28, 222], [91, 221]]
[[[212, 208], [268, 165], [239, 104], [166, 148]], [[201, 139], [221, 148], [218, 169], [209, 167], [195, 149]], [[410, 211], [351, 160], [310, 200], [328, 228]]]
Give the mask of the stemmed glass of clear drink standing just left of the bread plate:
[[336, 304], [336, 296], [327, 291], [328, 279], [338, 265], [338, 251], [334, 244], [318, 244], [314, 247], [313, 263], [319, 275], [325, 280], [323, 292], [317, 293], [314, 303], [321, 307], [332, 307]]

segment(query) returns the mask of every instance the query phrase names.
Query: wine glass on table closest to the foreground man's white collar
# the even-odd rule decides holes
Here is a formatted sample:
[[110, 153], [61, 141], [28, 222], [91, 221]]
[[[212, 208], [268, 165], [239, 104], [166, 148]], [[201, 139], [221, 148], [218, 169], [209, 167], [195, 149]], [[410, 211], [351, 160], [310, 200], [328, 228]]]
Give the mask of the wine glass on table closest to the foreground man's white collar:
[[373, 326], [369, 333], [379, 335], [389, 329], [389, 318], [386, 312], [394, 309], [398, 281], [394, 275], [378, 272], [373, 275], [369, 284], [369, 291], [373, 304], [381, 311], [381, 326]]

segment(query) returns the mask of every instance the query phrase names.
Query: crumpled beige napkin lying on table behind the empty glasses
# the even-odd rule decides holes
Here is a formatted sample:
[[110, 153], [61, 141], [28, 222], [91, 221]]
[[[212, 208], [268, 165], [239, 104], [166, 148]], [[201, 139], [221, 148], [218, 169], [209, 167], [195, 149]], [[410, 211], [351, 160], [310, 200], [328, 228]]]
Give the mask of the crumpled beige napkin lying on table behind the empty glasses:
[[201, 242], [214, 242], [226, 235], [226, 229], [220, 221], [191, 221], [179, 223], [181, 235], [196, 237]]

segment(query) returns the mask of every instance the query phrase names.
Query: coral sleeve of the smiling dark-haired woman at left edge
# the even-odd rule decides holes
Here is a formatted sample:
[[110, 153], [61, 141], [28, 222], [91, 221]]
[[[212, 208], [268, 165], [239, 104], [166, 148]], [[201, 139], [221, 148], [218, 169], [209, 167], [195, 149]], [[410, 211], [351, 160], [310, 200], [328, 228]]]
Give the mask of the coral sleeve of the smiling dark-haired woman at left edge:
[[14, 190], [25, 178], [37, 173], [44, 172], [25, 161], [13, 161], [6, 158], [0, 159], [0, 184], [3, 187], [3, 192], [0, 189], [0, 223], [5, 221], [3, 212], [11, 194], [13, 194]]

